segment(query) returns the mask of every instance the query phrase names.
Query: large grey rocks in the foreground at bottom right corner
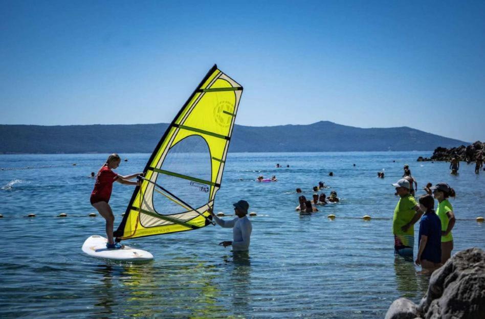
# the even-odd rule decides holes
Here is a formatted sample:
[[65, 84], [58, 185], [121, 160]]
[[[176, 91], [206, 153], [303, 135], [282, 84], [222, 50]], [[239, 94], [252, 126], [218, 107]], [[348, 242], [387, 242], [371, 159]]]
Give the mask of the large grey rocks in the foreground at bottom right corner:
[[386, 319], [485, 318], [485, 252], [461, 250], [431, 275], [419, 305], [395, 300]]

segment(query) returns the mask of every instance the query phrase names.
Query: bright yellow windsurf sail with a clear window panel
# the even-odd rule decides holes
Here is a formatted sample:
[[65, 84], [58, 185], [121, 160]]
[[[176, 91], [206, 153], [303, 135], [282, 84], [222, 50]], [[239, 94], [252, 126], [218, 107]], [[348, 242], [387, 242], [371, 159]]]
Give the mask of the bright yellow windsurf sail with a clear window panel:
[[211, 222], [242, 86], [214, 65], [150, 156], [118, 240], [190, 231]]

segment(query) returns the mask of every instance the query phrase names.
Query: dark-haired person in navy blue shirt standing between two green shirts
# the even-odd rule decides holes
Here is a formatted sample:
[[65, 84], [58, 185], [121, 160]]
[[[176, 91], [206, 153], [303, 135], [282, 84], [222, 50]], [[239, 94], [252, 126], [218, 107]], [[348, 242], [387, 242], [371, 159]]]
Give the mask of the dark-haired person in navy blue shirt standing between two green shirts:
[[420, 197], [421, 210], [425, 212], [420, 221], [416, 265], [433, 271], [441, 263], [441, 221], [434, 212], [434, 199], [431, 195]]

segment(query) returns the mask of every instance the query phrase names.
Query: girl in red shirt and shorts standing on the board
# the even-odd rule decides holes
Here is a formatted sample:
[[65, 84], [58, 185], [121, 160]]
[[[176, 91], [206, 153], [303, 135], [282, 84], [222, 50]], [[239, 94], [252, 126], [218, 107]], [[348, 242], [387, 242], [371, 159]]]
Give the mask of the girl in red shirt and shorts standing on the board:
[[96, 176], [96, 183], [94, 184], [94, 190], [91, 193], [91, 204], [95, 209], [98, 210], [99, 214], [106, 219], [106, 236], [108, 238], [108, 243], [106, 248], [109, 249], [120, 249], [122, 246], [118, 243], [115, 244], [113, 239], [113, 224], [115, 222], [115, 216], [111, 207], [109, 207], [108, 201], [111, 197], [111, 191], [113, 190], [113, 183], [117, 181], [118, 183], [125, 185], [139, 185], [137, 181], [129, 181], [128, 179], [134, 178], [137, 175], [143, 175], [143, 173], [137, 173], [133, 175], [121, 176], [113, 172], [121, 162], [121, 158], [118, 154], [111, 154], [106, 159], [106, 163], [101, 167]]

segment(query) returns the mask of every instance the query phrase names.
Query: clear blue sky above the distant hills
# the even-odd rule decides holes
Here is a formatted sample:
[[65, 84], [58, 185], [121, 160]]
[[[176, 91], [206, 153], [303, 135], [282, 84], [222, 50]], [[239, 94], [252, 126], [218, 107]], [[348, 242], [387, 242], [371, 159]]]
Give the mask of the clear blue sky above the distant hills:
[[237, 124], [484, 141], [483, 16], [483, 1], [0, 0], [0, 124], [170, 122], [217, 63], [245, 87]]

